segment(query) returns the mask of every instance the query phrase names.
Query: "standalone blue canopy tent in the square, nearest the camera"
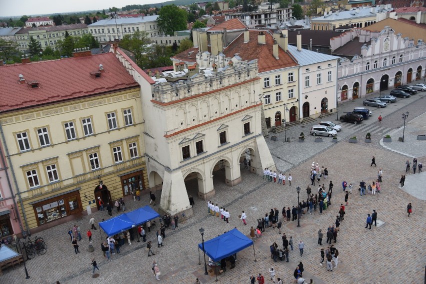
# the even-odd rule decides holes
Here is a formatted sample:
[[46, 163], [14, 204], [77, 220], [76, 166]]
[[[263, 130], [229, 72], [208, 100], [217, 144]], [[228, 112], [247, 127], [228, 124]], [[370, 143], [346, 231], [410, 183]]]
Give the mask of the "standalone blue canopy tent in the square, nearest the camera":
[[232, 229], [220, 236], [217, 236], [216, 238], [204, 242], [204, 244], [198, 244], [198, 252], [199, 250], [203, 251], [210, 259], [217, 262], [229, 257], [230, 255], [236, 254], [249, 246], [253, 246], [254, 261], [256, 261], [253, 241], [237, 229]]

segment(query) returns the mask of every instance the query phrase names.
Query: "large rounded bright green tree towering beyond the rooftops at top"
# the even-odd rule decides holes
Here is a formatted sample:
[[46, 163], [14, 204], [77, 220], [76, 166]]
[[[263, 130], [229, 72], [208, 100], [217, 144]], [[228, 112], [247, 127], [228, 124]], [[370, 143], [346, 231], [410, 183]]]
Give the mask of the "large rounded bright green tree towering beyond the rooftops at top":
[[172, 36], [175, 31], [186, 29], [187, 18], [185, 10], [172, 4], [163, 6], [158, 11], [157, 22], [161, 32]]

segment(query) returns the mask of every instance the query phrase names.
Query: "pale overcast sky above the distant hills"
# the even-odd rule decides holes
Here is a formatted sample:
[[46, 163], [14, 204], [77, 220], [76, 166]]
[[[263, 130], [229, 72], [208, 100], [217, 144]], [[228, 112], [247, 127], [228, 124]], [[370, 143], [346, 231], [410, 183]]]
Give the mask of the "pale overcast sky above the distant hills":
[[131, 4], [150, 4], [165, 0], [0, 0], [0, 16], [36, 15], [77, 12], [85, 10], [107, 10]]

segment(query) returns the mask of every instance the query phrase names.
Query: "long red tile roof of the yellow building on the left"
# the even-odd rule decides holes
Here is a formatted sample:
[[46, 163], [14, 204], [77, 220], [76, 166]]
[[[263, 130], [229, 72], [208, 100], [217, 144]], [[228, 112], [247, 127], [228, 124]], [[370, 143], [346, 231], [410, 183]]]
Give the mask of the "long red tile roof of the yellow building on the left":
[[[105, 70], [93, 78], [99, 64]], [[19, 83], [22, 74], [25, 83]], [[37, 88], [27, 82], [36, 80]], [[0, 67], [0, 112], [118, 91], [139, 85], [112, 52]]]

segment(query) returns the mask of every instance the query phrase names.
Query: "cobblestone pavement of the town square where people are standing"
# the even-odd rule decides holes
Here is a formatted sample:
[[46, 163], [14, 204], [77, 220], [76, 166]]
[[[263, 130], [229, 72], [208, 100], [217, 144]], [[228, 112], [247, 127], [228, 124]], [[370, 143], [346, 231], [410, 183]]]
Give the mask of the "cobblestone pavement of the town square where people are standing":
[[[421, 100], [420, 96], [422, 96], [421, 93], [417, 99], [404, 101], [410, 107], [410, 114], [413, 112], [412, 118], [415, 117], [417, 111], [415, 109], [420, 107], [418, 106]], [[347, 104], [353, 103], [348, 102]], [[342, 108], [344, 107], [348, 108], [347, 105]], [[392, 112], [382, 114], [384, 119], [379, 127], [384, 128], [376, 128], [376, 130], [378, 129], [377, 134], [380, 134], [380, 136], [377, 135], [378, 137], [400, 126], [400, 111], [395, 111], [394, 114]], [[396, 116], [399, 116], [398, 121], [396, 121]], [[393, 119], [394, 122], [392, 122]], [[376, 122], [371, 119], [371, 125], [365, 123], [362, 127], [376, 127], [373, 123]], [[386, 123], [390, 124], [387, 125]], [[356, 133], [363, 138], [367, 128], [360, 129], [357, 128], [358, 126], [354, 127], [347, 123], [344, 124], [344, 127], [341, 134], [343, 134], [343, 131], [347, 131], [344, 133], [345, 136], [339, 133], [340, 141], [338, 143], [329, 142], [328, 145], [328, 142], [325, 141], [323, 143], [293, 141], [285, 143], [285, 147], [288, 147], [288, 149], [285, 148], [283, 154], [278, 153], [278, 150], [275, 151], [279, 157], [290, 161], [288, 169], [291, 169], [293, 176], [291, 186], [265, 182], [261, 177], [241, 169], [242, 182], [237, 186], [227, 187], [223, 183], [224, 173], [215, 173], [214, 188], [216, 195], [212, 201], [229, 210], [231, 216], [229, 224], [218, 220], [216, 217], [208, 216], [206, 202], [196, 199], [193, 208], [194, 217], [186, 220], [184, 224], [179, 224], [174, 231], [167, 230], [164, 247], [157, 249], [154, 246], [154, 253], [156, 254], [154, 257], [148, 258], [145, 244], [137, 243], [134, 240], [131, 245], [125, 244], [120, 249], [120, 255], [112, 256], [111, 260], [107, 262], [100, 251], [99, 228], [93, 232], [95, 251], [93, 253], [87, 251], [88, 240], [83, 234], [83, 240], [79, 243], [81, 253], [74, 254], [67, 231], [74, 223], [79, 224], [82, 233], [87, 231], [89, 216], [84, 216], [79, 220], [47, 229], [38, 234], [38, 236], [44, 238], [47, 244], [47, 253], [43, 256], [35, 256], [34, 259], [27, 262], [31, 277], [29, 280], [24, 280], [23, 267], [18, 266], [15, 269], [4, 271], [3, 275], [0, 276], [0, 283], [50, 284], [60, 281], [62, 284], [104, 284], [112, 282], [149, 284], [157, 282], [151, 271], [151, 264], [154, 260], [161, 271], [161, 283], [192, 283], [196, 277], [203, 284], [214, 283], [215, 278], [204, 276], [203, 265], [198, 265], [197, 244], [201, 241], [198, 229], [200, 227], [205, 228], [205, 240], [216, 237], [234, 227], [244, 234], [248, 234], [250, 226], [256, 224], [255, 220], [264, 216], [270, 208], [277, 207], [281, 212], [283, 206], [295, 205], [297, 202], [295, 192], [297, 185], [302, 189], [300, 201], [304, 200], [306, 196], [304, 189], [310, 184], [309, 168], [311, 162], [318, 162], [320, 166], [324, 165], [329, 170], [328, 180], [321, 180], [321, 183], [328, 184], [329, 180], [333, 181], [332, 205], [322, 215], [319, 215], [318, 212], [313, 215], [303, 215], [300, 220], [300, 228], [296, 227], [295, 222], [283, 222], [281, 232], [284, 232], [287, 237], [292, 236], [294, 240], [294, 251], [290, 252], [289, 255], [290, 262], [273, 263], [270, 259], [270, 243], [276, 242], [281, 246], [282, 242], [277, 229], [268, 228], [263, 236], [254, 242], [257, 262], [254, 262], [252, 248], [247, 248], [238, 253], [236, 268], [227, 270], [224, 274], [218, 276], [219, 281], [230, 284], [249, 283], [249, 275], [257, 273], [262, 273], [268, 280], [267, 271], [273, 266], [276, 270], [276, 277], [283, 279], [284, 283], [291, 283], [293, 271], [299, 261], [304, 264], [304, 278], [312, 278], [316, 284], [411, 284], [424, 281], [424, 264], [426, 263], [425, 204], [423, 200], [398, 189], [399, 177], [405, 173], [403, 163], [406, 157], [383, 148], [375, 137], [373, 137], [372, 143], [364, 143], [363, 139], [358, 139], [359, 141], [356, 144], [348, 143], [346, 140], [349, 135]], [[354, 127], [354, 129], [350, 130], [351, 127]], [[308, 137], [306, 131], [305, 135]], [[271, 147], [270, 145], [269, 147]], [[293, 148], [294, 151], [291, 150]], [[296, 151], [299, 152], [298, 159], [297, 155], [293, 153]], [[369, 166], [373, 155], [376, 157], [377, 167]], [[275, 161], [279, 160], [276, 156], [274, 158]], [[366, 182], [371, 182], [376, 178], [379, 167], [383, 169], [381, 193], [375, 196], [359, 196], [357, 191], [359, 181], [363, 179]], [[352, 183], [354, 187], [349, 196], [345, 219], [340, 226], [335, 244], [339, 250], [339, 265], [333, 272], [327, 272], [325, 266], [319, 266], [320, 246], [317, 245], [317, 231], [318, 229], [325, 231], [329, 225], [334, 223], [339, 205], [343, 203], [344, 195], [341, 190], [343, 179]], [[426, 180], [424, 174], [409, 174], [407, 179], [420, 181], [420, 183], [421, 179]], [[405, 187], [408, 186], [407, 184]], [[194, 186], [188, 190], [188, 193], [196, 196], [194, 194], [196, 191], [196, 186]], [[159, 193], [157, 196], [159, 196]], [[407, 217], [406, 214], [408, 202], [412, 203], [413, 208], [410, 217]], [[126, 207], [130, 211], [146, 204], [148, 204], [148, 197], [145, 195], [142, 196], [140, 202], [128, 201]], [[158, 205], [153, 206], [153, 208], [158, 209]], [[373, 226], [371, 230], [368, 230], [364, 228], [366, 214], [371, 213], [373, 209], [377, 211], [378, 219], [383, 221], [384, 224], [379, 227]], [[243, 226], [241, 220], [237, 218], [241, 210], [245, 210], [247, 213], [247, 226]], [[113, 214], [116, 215], [117, 213], [114, 211]], [[97, 221], [107, 218], [105, 211], [96, 212], [93, 216]], [[104, 238], [105, 235], [102, 234], [102, 237]], [[155, 233], [151, 230], [151, 233], [148, 233], [147, 240], [156, 244], [154, 239]], [[296, 247], [298, 240], [303, 240], [305, 244], [303, 257], [300, 257]], [[323, 244], [325, 244], [325, 238]], [[322, 247], [325, 247], [325, 245]], [[96, 258], [100, 268], [100, 276], [95, 279], [91, 277], [90, 260], [92, 257]], [[200, 260], [202, 264], [202, 255]]]

